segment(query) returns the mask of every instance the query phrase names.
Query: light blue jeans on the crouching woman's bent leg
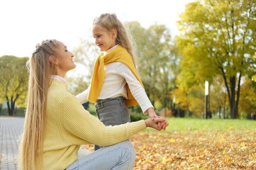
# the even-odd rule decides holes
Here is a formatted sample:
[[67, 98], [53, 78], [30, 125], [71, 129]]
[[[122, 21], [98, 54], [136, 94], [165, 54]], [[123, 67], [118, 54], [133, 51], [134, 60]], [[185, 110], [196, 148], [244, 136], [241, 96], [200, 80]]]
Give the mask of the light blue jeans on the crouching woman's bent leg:
[[132, 170], [135, 149], [129, 141], [103, 147], [75, 161], [66, 170]]

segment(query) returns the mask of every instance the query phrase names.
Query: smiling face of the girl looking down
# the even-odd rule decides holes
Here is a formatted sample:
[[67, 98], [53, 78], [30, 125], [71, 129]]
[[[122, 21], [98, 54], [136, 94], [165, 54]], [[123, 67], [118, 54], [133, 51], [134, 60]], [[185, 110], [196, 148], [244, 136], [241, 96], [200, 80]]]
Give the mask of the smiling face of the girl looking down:
[[103, 26], [94, 24], [92, 27], [92, 36], [95, 38], [95, 44], [99, 47], [100, 51], [107, 51], [117, 45], [117, 31], [115, 29], [107, 31]]

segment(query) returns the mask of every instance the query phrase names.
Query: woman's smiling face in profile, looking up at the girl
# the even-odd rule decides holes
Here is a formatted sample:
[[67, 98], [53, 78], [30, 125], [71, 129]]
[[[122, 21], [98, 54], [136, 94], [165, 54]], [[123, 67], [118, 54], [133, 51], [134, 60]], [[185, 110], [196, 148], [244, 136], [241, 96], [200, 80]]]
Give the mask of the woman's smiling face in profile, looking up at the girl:
[[58, 49], [57, 49], [57, 69], [61, 72], [67, 72], [72, 70], [73, 68], [76, 68], [76, 64], [74, 64], [73, 57], [74, 54], [72, 54], [70, 51], [67, 51], [67, 46], [63, 44], [62, 42], [58, 42]]

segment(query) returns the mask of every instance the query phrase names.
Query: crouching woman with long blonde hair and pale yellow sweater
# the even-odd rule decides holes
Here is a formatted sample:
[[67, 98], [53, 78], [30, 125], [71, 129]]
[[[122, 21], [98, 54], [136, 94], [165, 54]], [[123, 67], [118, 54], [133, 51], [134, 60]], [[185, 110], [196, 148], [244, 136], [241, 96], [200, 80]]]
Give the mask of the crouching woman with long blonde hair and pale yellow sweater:
[[[159, 117], [104, 126], [65, 89], [65, 74], [76, 67], [73, 57], [62, 42], [52, 39], [37, 44], [27, 63], [29, 88], [19, 169], [132, 170], [135, 150], [124, 140], [146, 127], [166, 129], [168, 122]], [[81, 144], [108, 147], [78, 160]]]

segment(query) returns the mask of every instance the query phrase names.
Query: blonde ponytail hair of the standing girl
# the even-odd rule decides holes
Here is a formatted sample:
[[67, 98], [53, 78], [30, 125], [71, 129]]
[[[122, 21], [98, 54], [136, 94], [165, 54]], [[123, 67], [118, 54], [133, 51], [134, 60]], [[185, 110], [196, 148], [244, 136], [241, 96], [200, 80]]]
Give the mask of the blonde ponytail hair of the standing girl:
[[94, 24], [103, 26], [107, 31], [112, 29], [117, 30], [117, 44], [123, 46], [128, 53], [132, 56], [133, 64], [136, 67], [137, 62], [137, 46], [133, 40], [129, 29], [125, 28], [120, 20], [117, 19], [115, 13], [103, 13], [99, 17], [95, 18]]

